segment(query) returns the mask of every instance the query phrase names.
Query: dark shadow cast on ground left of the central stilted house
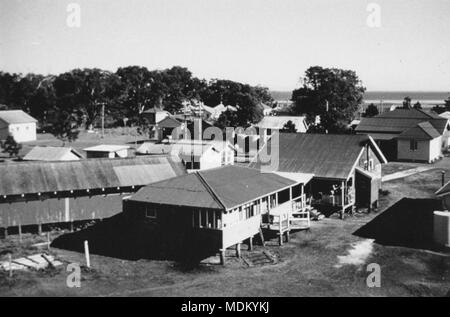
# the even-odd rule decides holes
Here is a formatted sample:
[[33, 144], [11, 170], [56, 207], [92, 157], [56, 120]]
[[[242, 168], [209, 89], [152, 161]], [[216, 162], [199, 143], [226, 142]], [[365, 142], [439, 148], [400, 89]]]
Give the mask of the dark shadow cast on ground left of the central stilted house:
[[195, 265], [214, 255], [200, 245], [169, 247], [161, 241], [161, 232], [143, 223], [133, 222], [120, 213], [103, 221], [56, 238], [51, 246], [75, 252], [84, 252], [84, 241], [89, 242], [91, 254], [124, 260], [173, 260]]

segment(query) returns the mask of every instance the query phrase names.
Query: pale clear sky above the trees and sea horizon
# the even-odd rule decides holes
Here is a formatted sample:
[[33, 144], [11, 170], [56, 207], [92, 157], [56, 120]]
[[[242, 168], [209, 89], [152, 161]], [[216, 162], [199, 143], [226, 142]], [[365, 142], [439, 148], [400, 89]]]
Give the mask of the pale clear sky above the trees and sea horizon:
[[320, 65], [372, 91], [450, 91], [449, 17], [449, 0], [0, 0], [0, 70], [180, 65], [292, 90]]

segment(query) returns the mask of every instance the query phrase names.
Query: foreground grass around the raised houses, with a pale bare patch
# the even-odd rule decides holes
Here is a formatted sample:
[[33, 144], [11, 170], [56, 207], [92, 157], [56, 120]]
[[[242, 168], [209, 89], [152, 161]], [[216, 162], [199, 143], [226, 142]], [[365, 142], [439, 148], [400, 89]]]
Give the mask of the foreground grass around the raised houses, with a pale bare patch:
[[[68, 288], [64, 269], [0, 273], [0, 296], [445, 296], [450, 290], [450, 253], [373, 242], [354, 233], [404, 197], [433, 198], [440, 186], [439, 168], [383, 184], [390, 192], [378, 212], [339, 220], [337, 215], [313, 222], [310, 231], [291, 234], [279, 247], [266, 246], [278, 262], [247, 267], [230, 250], [225, 267], [201, 264], [184, 267], [171, 261], [124, 260], [91, 256], [92, 270], [82, 271], [80, 288]], [[450, 168], [448, 169], [450, 172]], [[16, 242], [0, 241], [0, 251]], [[131, 248], [132, 246], [130, 246]], [[356, 251], [358, 252], [356, 252]], [[256, 246], [256, 251], [262, 251]], [[14, 249], [14, 256], [30, 252]], [[84, 263], [84, 255], [52, 249], [64, 263]], [[246, 255], [243, 246], [243, 255]], [[381, 267], [381, 287], [369, 288], [367, 264]]]

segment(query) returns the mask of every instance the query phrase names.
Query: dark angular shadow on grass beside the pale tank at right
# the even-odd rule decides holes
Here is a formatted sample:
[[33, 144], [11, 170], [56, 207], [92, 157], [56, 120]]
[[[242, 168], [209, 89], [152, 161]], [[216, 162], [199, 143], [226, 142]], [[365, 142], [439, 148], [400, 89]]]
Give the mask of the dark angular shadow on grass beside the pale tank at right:
[[442, 210], [436, 199], [403, 198], [353, 234], [388, 246], [440, 250], [433, 243], [433, 211]]

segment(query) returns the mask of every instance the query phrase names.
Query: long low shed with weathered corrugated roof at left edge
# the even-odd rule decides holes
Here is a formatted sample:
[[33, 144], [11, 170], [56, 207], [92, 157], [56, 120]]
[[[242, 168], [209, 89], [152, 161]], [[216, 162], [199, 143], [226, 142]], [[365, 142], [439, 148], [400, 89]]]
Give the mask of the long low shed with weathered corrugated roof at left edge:
[[184, 174], [166, 156], [0, 164], [0, 228], [107, 218], [141, 187]]

